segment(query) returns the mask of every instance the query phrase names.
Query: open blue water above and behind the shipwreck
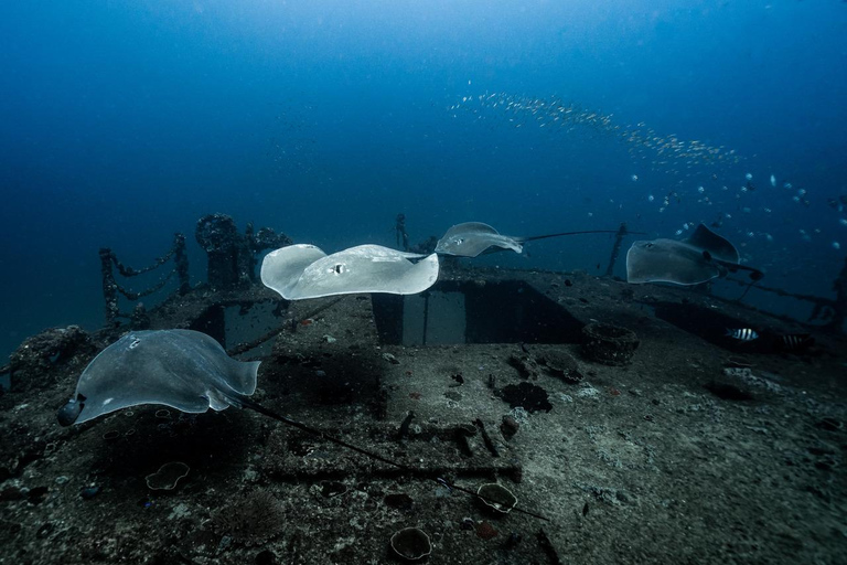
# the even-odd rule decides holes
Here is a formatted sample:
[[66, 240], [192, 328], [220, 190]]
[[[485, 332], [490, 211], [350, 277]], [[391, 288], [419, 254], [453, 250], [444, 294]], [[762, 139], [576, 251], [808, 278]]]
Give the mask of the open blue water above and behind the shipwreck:
[[[143, 266], [180, 231], [202, 278], [211, 212], [328, 252], [392, 245], [398, 212], [412, 241], [720, 217], [771, 286], [830, 296], [844, 263], [845, 2], [3, 2], [0, 36], [3, 354], [103, 322], [100, 246]], [[492, 93], [741, 159], [655, 164], [608, 128], [517, 127]], [[593, 273], [609, 248], [486, 260]]]

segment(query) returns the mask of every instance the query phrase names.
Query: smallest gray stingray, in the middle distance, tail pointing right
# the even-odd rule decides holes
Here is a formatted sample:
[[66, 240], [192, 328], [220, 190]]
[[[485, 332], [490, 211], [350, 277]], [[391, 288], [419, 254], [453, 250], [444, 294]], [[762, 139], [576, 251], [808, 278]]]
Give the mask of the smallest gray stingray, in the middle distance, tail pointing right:
[[[483, 253], [494, 253], [512, 249], [515, 253], [524, 250], [526, 242], [577, 234], [617, 234], [617, 230], [589, 230], [585, 232], [559, 232], [557, 234], [530, 235], [515, 237], [501, 235], [489, 224], [482, 222], [464, 222], [455, 224], [438, 241], [436, 253], [454, 255], [457, 257], [476, 257]], [[632, 232], [630, 232], [632, 233]]]

